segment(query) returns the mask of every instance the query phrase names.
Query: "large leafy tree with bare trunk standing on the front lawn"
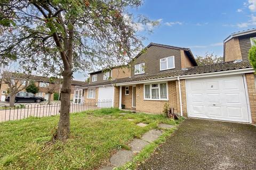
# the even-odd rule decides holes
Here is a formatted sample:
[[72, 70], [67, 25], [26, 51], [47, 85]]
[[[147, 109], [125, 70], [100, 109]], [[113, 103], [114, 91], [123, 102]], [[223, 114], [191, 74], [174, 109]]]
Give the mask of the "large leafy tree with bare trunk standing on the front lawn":
[[[142, 49], [138, 25], [150, 25], [128, 9], [142, 0], [3, 0], [0, 2], [0, 62], [61, 75], [60, 119], [53, 139], [70, 133], [71, 78], [75, 71], [127, 64]], [[44, 69], [42, 69], [44, 68]]]

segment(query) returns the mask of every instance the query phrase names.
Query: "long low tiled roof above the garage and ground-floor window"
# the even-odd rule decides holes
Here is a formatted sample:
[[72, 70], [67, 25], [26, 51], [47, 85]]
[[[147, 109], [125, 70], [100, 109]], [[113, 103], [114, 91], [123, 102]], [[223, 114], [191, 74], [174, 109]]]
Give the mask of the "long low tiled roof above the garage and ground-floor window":
[[170, 72], [161, 73], [161, 74], [142, 75], [141, 77], [123, 78], [123, 79], [116, 79], [116, 80], [100, 82], [100, 83], [86, 84], [85, 86], [81, 86], [81, 87], [102, 86], [107, 84], [116, 84], [116, 83], [142, 81], [142, 80], [154, 80], [154, 79], [161, 79], [161, 78], [177, 77], [181, 75], [213, 73], [213, 72], [239, 70], [239, 69], [247, 69], [247, 68], [252, 68], [249, 61], [231, 61], [231, 62], [225, 62], [225, 63], [211, 64], [211, 65], [195, 66], [188, 69], [170, 71]]

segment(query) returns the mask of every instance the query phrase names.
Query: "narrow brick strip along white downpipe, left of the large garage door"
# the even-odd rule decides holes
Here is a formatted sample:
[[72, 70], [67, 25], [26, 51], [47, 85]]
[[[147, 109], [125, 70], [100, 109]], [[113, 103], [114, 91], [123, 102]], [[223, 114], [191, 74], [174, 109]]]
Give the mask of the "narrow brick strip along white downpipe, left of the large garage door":
[[[180, 109], [180, 95], [179, 95], [179, 82], [178, 80], [175, 81], [176, 84], [176, 95], [177, 95], [177, 112], [180, 114], [181, 109]], [[185, 80], [180, 80], [180, 89], [181, 89], [181, 101], [182, 101], [182, 112], [183, 116], [187, 117], [187, 97], [186, 97], [186, 81]]]

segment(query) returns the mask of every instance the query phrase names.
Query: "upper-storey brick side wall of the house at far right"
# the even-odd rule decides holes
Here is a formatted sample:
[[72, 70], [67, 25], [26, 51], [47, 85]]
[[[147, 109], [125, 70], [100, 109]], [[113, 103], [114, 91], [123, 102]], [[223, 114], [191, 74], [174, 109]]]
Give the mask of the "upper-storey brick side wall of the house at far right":
[[238, 38], [232, 38], [225, 43], [225, 62], [233, 60], [242, 60]]

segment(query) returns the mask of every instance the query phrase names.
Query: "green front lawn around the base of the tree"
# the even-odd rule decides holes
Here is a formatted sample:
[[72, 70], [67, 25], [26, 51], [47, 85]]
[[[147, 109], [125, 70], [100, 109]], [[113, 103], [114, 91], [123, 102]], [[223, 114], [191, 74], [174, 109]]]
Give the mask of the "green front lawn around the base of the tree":
[[[129, 141], [157, 128], [158, 123], [179, 123], [163, 115], [121, 112], [101, 109], [71, 114], [70, 138], [51, 145], [47, 142], [55, 132], [58, 116], [0, 123], [0, 169], [95, 169], [115, 150], [129, 149]], [[141, 128], [136, 125], [140, 122], [149, 125]], [[149, 150], [156, 143], [150, 144]]]

